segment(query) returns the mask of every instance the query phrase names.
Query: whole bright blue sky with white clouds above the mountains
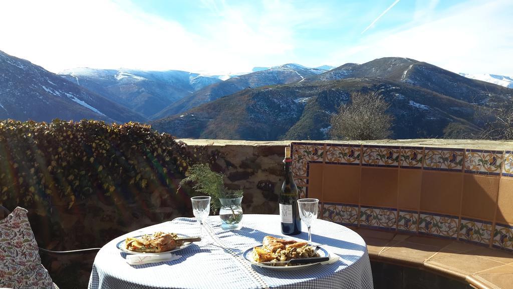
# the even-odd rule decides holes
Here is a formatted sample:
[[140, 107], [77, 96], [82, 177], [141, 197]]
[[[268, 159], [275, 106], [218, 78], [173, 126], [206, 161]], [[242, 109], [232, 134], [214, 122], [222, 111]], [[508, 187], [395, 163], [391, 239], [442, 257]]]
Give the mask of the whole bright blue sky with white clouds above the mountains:
[[513, 0], [0, 0], [0, 50], [75, 67], [237, 74], [408, 57], [513, 76]]

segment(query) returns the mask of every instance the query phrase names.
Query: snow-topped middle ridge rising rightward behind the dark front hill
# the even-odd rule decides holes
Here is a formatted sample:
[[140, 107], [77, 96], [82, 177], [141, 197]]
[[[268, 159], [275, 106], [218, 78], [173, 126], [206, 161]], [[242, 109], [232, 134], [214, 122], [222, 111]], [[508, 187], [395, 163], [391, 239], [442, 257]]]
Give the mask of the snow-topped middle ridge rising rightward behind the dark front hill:
[[308, 68], [299, 64], [285, 64], [233, 77], [224, 82], [204, 87], [194, 94], [176, 101], [163, 111], [155, 114], [153, 118], [178, 114], [203, 103], [242, 91], [245, 88], [298, 82], [325, 71], [319, 68]]

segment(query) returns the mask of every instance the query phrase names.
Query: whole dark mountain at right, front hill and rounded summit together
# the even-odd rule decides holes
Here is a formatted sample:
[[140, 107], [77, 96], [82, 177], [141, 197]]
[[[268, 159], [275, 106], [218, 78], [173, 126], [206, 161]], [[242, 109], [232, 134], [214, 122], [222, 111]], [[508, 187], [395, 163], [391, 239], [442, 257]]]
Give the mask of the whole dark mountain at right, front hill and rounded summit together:
[[477, 131], [481, 119], [476, 112], [513, 97], [513, 89], [429, 63], [380, 58], [344, 64], [290, 84], [244, 89], [151, 124], [177, 137], [326, 139], [330, 117], [349, 101], [351, 91], [384, 96], [395, 118], [393, 138], [443, 137], [450, 123]]

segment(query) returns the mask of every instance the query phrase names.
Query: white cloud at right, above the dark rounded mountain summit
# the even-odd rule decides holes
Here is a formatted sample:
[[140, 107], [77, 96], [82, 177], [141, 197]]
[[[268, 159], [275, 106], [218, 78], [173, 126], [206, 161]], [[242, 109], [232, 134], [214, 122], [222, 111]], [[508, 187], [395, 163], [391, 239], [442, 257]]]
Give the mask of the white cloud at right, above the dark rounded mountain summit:
[[512, 11], [513, 2], [508, 0], [470, 1], [436, 16], [429, 9], [430, 17], [417, 11], [418, 17], [425, 16], [422, 23], [417, 18], [412, 27], [370, 34], [334, 53], [330, 62], [364, 63], [398, 56], [429, 62], [456, 73], [511, 75]]

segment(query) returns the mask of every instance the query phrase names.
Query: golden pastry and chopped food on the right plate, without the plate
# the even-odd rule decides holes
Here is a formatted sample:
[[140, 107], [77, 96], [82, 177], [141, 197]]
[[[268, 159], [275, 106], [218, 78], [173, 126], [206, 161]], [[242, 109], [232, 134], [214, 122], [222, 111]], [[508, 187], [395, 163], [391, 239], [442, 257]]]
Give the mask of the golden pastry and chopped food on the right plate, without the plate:
[[[307, 242], [284, 240], [272, 236], [264, 237], [262, 246], [253, 248], [253, 260], [259, 263], [272, 262], [277, 265], [288, 265], [280, 263], [291, 259], [320, 257], [315, 247], [309, 246]], [[273, 264], [271, 264], [273, 265]]]

